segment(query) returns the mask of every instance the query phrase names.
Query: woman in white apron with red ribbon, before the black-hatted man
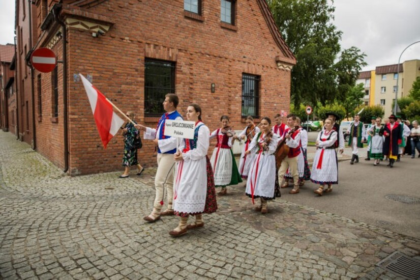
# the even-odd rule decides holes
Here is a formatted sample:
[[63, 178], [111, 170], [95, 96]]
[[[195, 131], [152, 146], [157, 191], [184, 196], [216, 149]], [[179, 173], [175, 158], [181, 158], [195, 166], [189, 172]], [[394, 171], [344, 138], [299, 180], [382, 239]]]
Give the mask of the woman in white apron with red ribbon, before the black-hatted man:
[[333, 119], [324, 121], [322, 129], [316, 139], [316, 153], [312, 164], [311, 181], [319, 184], [319, 188], [314, 190], [318, 195], [324, 192], [325, 184], [328, 188], [325, 192], [333, 191], [333, 184], [338, 183], [337, 152], [335, 143], [337, 141], [337, 131], [333, 129]]

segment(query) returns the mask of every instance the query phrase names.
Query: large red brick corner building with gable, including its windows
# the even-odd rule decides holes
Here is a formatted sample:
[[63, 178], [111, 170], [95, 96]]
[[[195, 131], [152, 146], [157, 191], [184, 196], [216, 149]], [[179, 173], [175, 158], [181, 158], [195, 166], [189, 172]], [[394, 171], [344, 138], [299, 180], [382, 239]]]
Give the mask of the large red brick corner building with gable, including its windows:
[[[288, 111], [295, 58], [265, 0], [195, 3], [35, 1], [33, 49], [48, 47], [62, 61], [51, 73], [34, 71], [36, 150], [72, 175], [122, 170], [123, 138], [102, 147], [78, 73], [151, 127], [169, 92], [181, 113], [201, 104], [210, 129], [221, 115], [242, 129], [247, 115]], [[155, 165], [154, 154], [145, 142], [139, 160]]]

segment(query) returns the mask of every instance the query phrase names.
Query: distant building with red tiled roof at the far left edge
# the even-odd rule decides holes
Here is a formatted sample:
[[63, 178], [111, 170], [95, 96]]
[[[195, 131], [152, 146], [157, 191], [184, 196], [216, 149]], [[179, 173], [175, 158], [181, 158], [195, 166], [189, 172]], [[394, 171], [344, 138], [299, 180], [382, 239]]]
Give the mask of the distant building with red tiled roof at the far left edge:
[[0, 45], [0, 129], [15, 133], [15, 45]]

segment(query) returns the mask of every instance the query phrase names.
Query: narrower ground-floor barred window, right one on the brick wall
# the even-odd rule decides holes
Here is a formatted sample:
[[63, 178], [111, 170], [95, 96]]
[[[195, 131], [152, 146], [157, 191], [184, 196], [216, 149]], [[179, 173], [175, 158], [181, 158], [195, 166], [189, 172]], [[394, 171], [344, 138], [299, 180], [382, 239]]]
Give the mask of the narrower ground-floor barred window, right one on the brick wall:
[[242, 74], [242, 117], [259, 118], [259, 76]]

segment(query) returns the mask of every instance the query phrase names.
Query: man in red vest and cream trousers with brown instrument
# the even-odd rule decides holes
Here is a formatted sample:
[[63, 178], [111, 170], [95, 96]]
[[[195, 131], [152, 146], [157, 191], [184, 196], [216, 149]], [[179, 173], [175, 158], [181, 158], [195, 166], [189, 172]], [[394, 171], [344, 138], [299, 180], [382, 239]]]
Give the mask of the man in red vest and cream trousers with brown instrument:
[[[296, 115], [289, 114], [287, 115], [287, 125], [289, 127], [294, 127], [296, 123]], [[285, 157], [280, 165], [279, 171], [279, 181], [283, 182], [284, 176], [286, 175], [287, 170], [289, 169], [291, 176], [293, 177], [293, 189], [289, 191], [291, 194], [299, 193], [299, 174], [297, 172], [297, 156], [302, 153], [301, 151], [301, 129], [296, 129], [293, 133], [286, 131], [284, 134], [286, 138], [285, 144], [289, 147], [289, 153]], [[288, 187], [288, 185], [283, 184], [282, 188]]]

